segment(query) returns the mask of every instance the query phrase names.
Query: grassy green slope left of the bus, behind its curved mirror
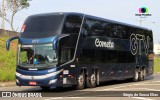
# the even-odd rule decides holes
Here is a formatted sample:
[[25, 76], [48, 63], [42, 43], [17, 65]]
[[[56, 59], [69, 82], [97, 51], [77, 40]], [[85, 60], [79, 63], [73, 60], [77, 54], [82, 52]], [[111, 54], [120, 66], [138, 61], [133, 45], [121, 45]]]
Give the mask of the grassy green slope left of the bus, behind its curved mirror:
[[6, 50], [6, 40], [9, 37], [0, 37], [0, 81], [15, 80], [17, 41], [11, 43], [10, 51]]

